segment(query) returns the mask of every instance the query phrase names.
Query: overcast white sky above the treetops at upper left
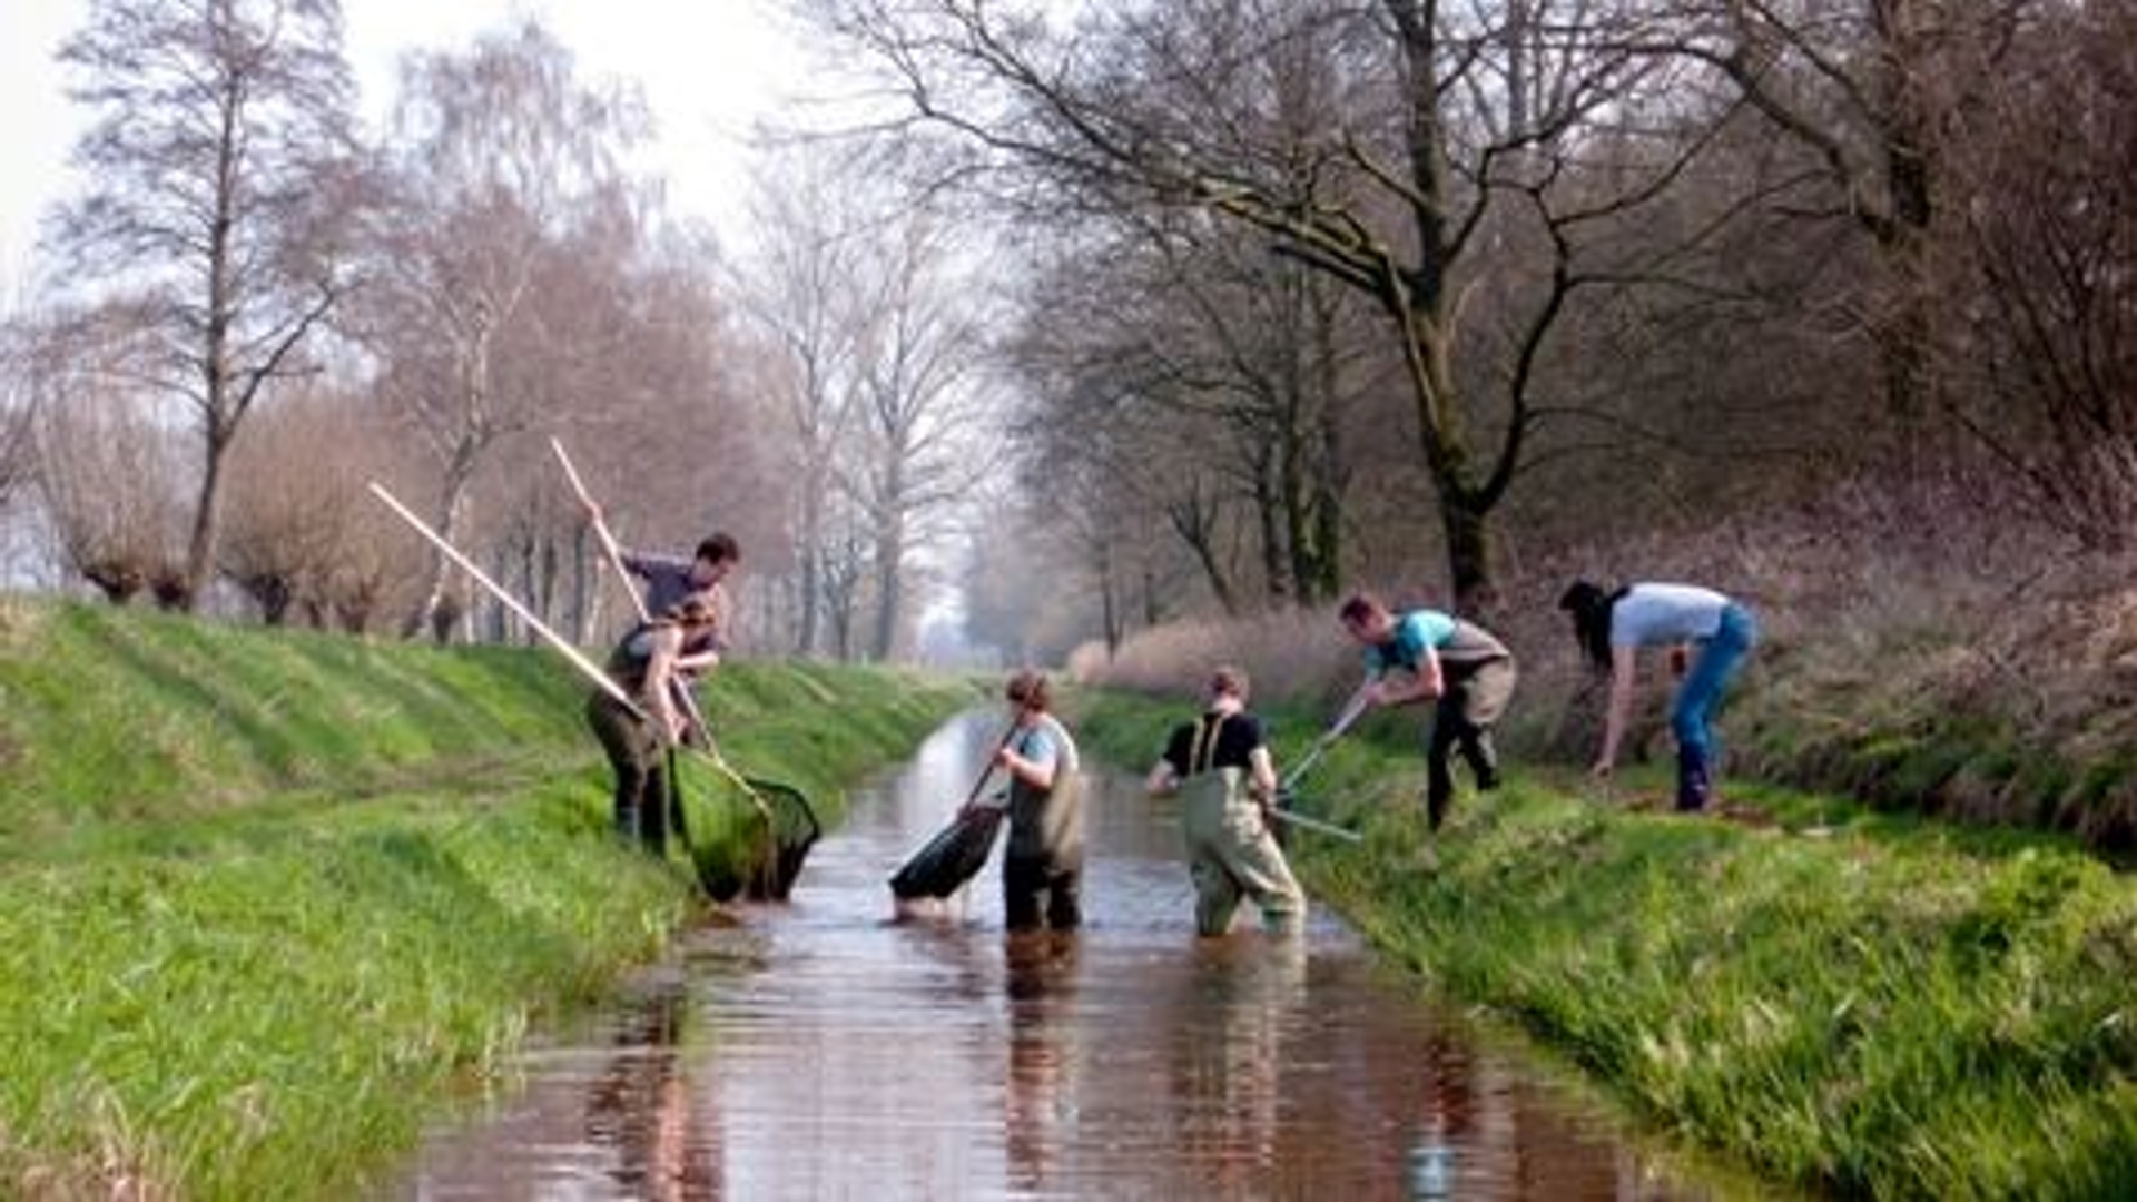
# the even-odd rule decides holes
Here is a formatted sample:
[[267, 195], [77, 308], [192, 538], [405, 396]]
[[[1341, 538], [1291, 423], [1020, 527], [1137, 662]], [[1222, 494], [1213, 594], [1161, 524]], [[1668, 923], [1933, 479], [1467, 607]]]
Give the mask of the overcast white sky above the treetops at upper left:
[[[83, 0], [0, 0], [0, 282], [30, 272], [38, 216], [75, 186], [66, 167], [79, 109], [53, 62]], [[462, 47], [515, 15], [539, 17], [577, 56], [581, 79], [637, 79], [658, 122], [652, 163], [669, 205], [737, 242], [744, 139], [780, 109], [806, 66], [774, 0], [342, 0], [346, 51], [376, 120], [395, 62], [415, 47]]]

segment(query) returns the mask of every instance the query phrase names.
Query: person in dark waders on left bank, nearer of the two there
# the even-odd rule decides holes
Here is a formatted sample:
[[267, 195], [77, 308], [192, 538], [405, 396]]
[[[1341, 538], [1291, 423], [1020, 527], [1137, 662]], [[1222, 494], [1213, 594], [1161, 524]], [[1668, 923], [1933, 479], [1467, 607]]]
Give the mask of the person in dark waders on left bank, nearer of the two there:
[[609, 652], [609, 678], [639, 708], [596, 689], [586, 699], [586, 723], [615, 768], [615, 834], [637, 836], [652, 856], [667, 856], [673, 783], [667, 751], [688, 731], [675, 704], [677, 661], [684, 648], [720, 620], [707, 597], [688, 597], [650, 622], [633, 627]]

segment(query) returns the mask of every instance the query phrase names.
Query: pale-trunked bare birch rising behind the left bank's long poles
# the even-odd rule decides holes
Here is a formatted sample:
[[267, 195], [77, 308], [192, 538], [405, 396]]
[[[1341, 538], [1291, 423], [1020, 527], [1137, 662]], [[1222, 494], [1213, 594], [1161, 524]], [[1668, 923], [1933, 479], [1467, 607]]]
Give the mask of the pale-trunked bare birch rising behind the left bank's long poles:
[[[556, 299], [543, 284], [575, 235], [628, 212], [620, 156], [641, 133], [641, 107], [581, 86], [571, 53], [532, 21], [402, 66], [361, 329], [385, 361], [383, 394], [436, 460], [447, 541], [470, 524], [492, 449], [562, 417], [545, 381], [573, 349], [539, 317]], [[447, 584], [434, 556], [408, 633], [440, 627]]]

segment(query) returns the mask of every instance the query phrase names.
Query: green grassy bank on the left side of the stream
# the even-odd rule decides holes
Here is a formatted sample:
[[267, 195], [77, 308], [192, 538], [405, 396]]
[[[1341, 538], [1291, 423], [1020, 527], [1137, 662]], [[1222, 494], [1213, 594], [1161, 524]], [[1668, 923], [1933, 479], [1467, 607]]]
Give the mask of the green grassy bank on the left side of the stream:
[[[539, 650], [0, 597], [0, 1196], [344, 1196], [656, 956], [701, 903], [605, 836], [581, 693]], [[827, 823], [968, 699], [750, 663], [703, 695]]]

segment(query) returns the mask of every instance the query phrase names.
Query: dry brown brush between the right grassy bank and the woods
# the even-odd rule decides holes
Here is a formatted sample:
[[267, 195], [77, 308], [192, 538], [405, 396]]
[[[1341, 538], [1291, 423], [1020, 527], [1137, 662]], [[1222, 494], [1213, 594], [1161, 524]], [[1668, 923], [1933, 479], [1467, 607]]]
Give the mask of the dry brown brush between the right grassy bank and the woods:
[[[1962, 492], [1842, 490], [1532, 558], [1492, 622], [1522, 661], [1509, 746], [1564, 764], [1592, 749], [1594, 680], [1556, 610], [1569, 577], [1690, 580], [1750, 601], [1763, 627], [1722, 719], [1733, 776], [2137, 849], [2137, 563], [2007, 513]], [[1385, 584], [1402, 603], [1447, 605], [1419, 582]], [[1333, 607], [1158, 627], [1111, 661], [1086, 648], [1075, 667], [1182, 691], [1218, 661], [1252, 672], [1263, 702], [1323, 712], [1359, 672]], [[1658, 676], [1635, 749], [1667, 749]]]

